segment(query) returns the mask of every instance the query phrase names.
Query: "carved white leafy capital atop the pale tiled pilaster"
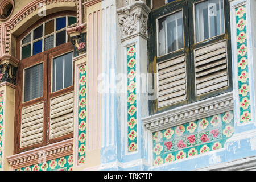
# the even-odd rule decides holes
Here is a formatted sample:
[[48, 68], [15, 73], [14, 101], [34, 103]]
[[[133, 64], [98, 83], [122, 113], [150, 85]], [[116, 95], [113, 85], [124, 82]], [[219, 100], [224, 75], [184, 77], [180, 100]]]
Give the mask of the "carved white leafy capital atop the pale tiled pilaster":
[[150, 11], [150, 7], [143, 1], [134, 1], [131, 5], [117, 9], [121, 42], [135, 35], [148, 39], [147, 20]]

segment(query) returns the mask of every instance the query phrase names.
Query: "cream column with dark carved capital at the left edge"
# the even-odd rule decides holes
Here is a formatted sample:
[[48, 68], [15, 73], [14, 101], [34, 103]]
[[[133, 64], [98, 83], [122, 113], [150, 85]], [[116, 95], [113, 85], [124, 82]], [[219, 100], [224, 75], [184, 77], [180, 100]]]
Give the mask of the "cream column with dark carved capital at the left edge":
[[14, 115], [16, 71], [19, 60], [4, 54], [0, 57], [0, 169], [9, 170], [7, 156], [14, 151]]

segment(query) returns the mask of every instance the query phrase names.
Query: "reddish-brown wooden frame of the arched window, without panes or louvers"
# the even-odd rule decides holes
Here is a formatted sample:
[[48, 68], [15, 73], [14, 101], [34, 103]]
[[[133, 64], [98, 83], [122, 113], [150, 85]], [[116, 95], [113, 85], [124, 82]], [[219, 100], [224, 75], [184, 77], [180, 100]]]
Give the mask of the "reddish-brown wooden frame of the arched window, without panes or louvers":
[[[32, 29], [37, 27], [39, 24], [42, 24], [43, 22], [46, 22], [49, 19], [52, 18], [58, 18], [60, 16], [64, 15], [76, 15], [73, 11], [64, 11], [62, 13], [54, 13], [51, 15], [48, 15], [45, 18], [42, 18], [38, 20], [35, 24], [33, 24], [28, 30], [23, 32], [22, 35], [20, 35], [17, 38], [17, 49], [16, 49], [16, 55], [18, 58], [20, 58], [20, 40], [24, 38], [30, 32]], [[49, 139], [49, 111], [50, 111], [50, 100], [53, 97], [61, 96], [62, 94], [73, 92], [74, 90], [74, 76], [73, 76], [73, 83], [72, 86], [69, 86], [68, 88], [64, 88], [62, 90], [59, 90], [57, 92], [52, 93], [52, 61], [53, 58], [59, 57], [61, 55], [65, 55], [66, 53], [73, 51], [73, 45], [71, 42], [61, 44], [60, 46], [54, 47], [52, 49], [48, 49], [47, 51], [38, 53], [36, 55], [32, 55], [31, 57], [27, 57], [26, 59], [20, 60], [18, 71], [17, 71], [17, 87], [16, 87], [16, 93], [15, 93], [15, 128], [14, 128], [14, 154], [32, 150], [34, 148], [46, 146], [48, 144], [52, 144], [55, 142], [60, 142], [61, 140], [69, 139], [73, 137], [73, 132], [63, 135], [61, 137], [57, 137], [54, 139]], [[24, 69], [32, 67], [34, 65], [37, 65], [39, 63], [43, 63], [43, 96], [40, 98], [35, 98], [34, 100], [23, 102], [23, 77], [24, 77]], [[75, 65], [73, 64], [73, 74], [75, 73]], [[22, 117], [22, 108], [27, 106], [32, 106], [36, 103], [44, 102], [44, 119], [43, 119], [43, 142], [32, 144], [31, 146], [26, 146], [21, 148], [20, 147], [20, 132], [21, 132], [21, 117]]]

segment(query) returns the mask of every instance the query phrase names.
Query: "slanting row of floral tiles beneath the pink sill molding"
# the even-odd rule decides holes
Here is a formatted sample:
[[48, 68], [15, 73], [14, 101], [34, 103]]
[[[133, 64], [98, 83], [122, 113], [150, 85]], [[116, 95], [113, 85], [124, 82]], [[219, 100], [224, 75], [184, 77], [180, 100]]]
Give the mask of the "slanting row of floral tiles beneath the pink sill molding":
[[73, 155], [64, 156], [58, 159], [48, 160], [39, 164], [16, 169], [16, 171], [72, 171]]

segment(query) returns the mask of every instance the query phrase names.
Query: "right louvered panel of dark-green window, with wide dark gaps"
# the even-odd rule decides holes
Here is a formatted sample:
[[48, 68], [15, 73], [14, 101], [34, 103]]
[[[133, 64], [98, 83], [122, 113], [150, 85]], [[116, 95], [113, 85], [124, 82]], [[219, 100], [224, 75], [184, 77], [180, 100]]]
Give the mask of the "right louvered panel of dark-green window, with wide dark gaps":
[[228, 86], [226, 40], [195, 50], [196, 96]]

